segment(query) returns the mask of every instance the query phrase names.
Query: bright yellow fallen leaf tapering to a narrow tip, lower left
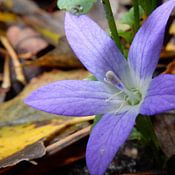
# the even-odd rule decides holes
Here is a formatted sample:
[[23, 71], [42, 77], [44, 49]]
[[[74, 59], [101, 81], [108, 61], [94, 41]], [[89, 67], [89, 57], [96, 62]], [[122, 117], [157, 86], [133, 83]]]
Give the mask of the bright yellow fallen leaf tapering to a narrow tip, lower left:
[[45, 140], [61, 129], [93, 120], [94, 116], [83, 118], [54, 119], [50, 122], [37, 122], [17, 126], [4, 126], [0, 128], [0, 160], [21, 151], [39, 140]]

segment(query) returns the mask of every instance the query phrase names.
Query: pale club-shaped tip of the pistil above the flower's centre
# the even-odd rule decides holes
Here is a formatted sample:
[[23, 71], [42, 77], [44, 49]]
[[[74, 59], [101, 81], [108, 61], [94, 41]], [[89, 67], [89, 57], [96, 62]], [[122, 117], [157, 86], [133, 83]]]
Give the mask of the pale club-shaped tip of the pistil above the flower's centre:
[[120, 78], [117, 77], [117, 75], [115, 75], [114, 72], [112, 72], [112, 71], [108, 71], [106, 73], [106, 79], [105, 80], [107, 82], [110, 82], [111, 84], [115, 85], [120, 90], [124, 89], [124, 84], [122, 83]]

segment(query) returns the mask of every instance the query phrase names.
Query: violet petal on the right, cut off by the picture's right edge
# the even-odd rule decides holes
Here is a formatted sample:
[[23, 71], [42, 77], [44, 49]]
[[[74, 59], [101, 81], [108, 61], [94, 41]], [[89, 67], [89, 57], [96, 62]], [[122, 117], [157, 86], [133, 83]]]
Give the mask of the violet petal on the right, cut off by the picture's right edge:
[[152, 80], [140, 113], [154, 115], [173, 109], [175, 109], [175, 75], [160, 75]]

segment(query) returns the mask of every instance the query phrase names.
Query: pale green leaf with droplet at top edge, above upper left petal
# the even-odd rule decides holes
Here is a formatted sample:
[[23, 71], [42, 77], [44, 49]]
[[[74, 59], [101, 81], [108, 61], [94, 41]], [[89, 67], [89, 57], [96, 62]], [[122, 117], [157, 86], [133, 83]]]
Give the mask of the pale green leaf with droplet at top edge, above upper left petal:
[[86, 14], [97, 0], [58, 0], [57, 5], [61, 10], [66, 10], [74, 15]]

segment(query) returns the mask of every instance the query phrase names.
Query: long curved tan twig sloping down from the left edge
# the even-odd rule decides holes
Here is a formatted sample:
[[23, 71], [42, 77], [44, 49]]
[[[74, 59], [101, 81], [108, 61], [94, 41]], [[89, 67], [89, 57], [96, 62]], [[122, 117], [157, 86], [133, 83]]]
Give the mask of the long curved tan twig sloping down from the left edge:
[[25, 84], [26, 80], [23, 74], [22, 66], [18, 60], [17, 54], [15, 53], [14, 49], [12, 48], [6, 37], [1, 36], [0, 40], [4, 45], [4, 47], [7, 49], [7, 51], [9, 52], [9, 55], [11, 56], [15, 68], [16, 79], [21, 83]]

